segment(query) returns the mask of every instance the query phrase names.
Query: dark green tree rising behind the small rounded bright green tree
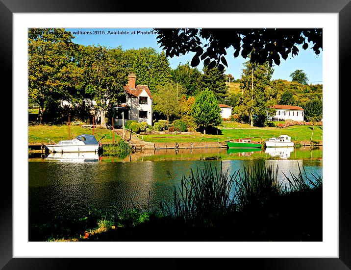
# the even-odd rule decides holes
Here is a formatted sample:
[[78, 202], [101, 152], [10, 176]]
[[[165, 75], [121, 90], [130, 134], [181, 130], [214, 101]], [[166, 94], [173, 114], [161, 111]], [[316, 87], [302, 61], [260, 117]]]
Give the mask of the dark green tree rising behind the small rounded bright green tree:
[[203, 68], [203, 74], [198, 79], [198, 89], [208, 88], [211, 90], [219, 102], [224, 102], [228, 96], [228, 86], [226, 85], [226, 75], [217, 68]]

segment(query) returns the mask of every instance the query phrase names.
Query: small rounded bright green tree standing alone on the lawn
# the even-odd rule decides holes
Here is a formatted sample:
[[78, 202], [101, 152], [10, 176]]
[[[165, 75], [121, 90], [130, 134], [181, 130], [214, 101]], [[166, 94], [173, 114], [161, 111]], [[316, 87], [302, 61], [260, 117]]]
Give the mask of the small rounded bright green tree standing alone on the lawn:
[[208, 126], [222, 123], [221, 108], [211, 90], [206, 88], [195, 98], [195, 103], [191, 107], [191, 116], [197, 125], [203, 127], [203, 134], [206, 134]]

